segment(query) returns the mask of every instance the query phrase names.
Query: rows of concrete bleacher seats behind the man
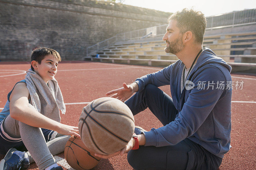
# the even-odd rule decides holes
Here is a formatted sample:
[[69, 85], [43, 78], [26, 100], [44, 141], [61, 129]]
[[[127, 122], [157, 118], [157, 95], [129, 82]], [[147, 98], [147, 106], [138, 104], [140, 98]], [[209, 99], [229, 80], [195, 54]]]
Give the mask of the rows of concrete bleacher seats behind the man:
[[[164, 52], [165, 45], [162, 37], [117, 42], [85, 57], [85, 60], [165, 67], [178, 60], [177, 56]], [[212, 49], [235, 72], [256, 69], [256, 32], [206, 35], [203, 46]]]

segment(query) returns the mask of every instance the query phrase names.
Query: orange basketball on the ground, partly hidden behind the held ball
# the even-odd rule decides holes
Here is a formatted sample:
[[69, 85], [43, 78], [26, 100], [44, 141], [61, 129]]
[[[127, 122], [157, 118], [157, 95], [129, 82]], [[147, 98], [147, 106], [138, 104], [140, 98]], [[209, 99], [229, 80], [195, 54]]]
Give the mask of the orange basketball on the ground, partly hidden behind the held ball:
[[94, 152], [74, 135], [68, 139], [64, 154], [68, 164], [77, 170], [92, 169], [100, 161], [100, 158], [94, 156]]

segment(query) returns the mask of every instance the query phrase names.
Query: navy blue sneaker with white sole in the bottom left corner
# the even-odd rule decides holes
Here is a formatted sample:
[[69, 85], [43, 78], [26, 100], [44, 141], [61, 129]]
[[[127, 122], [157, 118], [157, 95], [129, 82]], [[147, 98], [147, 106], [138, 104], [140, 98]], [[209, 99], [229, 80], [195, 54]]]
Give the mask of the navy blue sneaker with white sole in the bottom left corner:
[[29, 160], [25, 158], [25, 152], [11, 148], [1, 160], [0, 170], [20, 170], [29, 167]]

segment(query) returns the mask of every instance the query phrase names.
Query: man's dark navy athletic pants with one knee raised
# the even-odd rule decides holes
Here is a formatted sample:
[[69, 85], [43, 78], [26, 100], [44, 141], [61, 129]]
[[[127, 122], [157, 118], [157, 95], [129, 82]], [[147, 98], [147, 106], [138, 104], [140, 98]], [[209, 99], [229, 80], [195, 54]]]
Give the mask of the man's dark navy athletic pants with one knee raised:
[[[134, 94], [125, 102], [133, 115], [149, 108], [163, 125], [176, 117], [177, 110], [172, 98], [152, 84]], [[155, 147], [140, 146], [127, 156], [129, 164], [136, 170], [212, 170], [218, 169], [222, 158], [213, 155], [188, 138], [176, 145]]]

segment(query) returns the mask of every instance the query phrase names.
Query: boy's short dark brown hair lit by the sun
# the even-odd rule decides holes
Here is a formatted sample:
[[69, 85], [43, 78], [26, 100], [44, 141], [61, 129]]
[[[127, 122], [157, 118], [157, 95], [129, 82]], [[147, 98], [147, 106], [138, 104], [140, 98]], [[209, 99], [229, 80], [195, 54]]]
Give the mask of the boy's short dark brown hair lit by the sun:
[[[35, 50], [33, 50], [31, 53], [31, 61], [35, 60], [41, 64], [41, 61], [44, 59], [44, 57], [51, 54], [57, 59], [58, 62], [61, 61], [60, 54], [57, 51], [45, 47], [37, 47]], [[31, 69], [35, 71], [32, 65]]]

